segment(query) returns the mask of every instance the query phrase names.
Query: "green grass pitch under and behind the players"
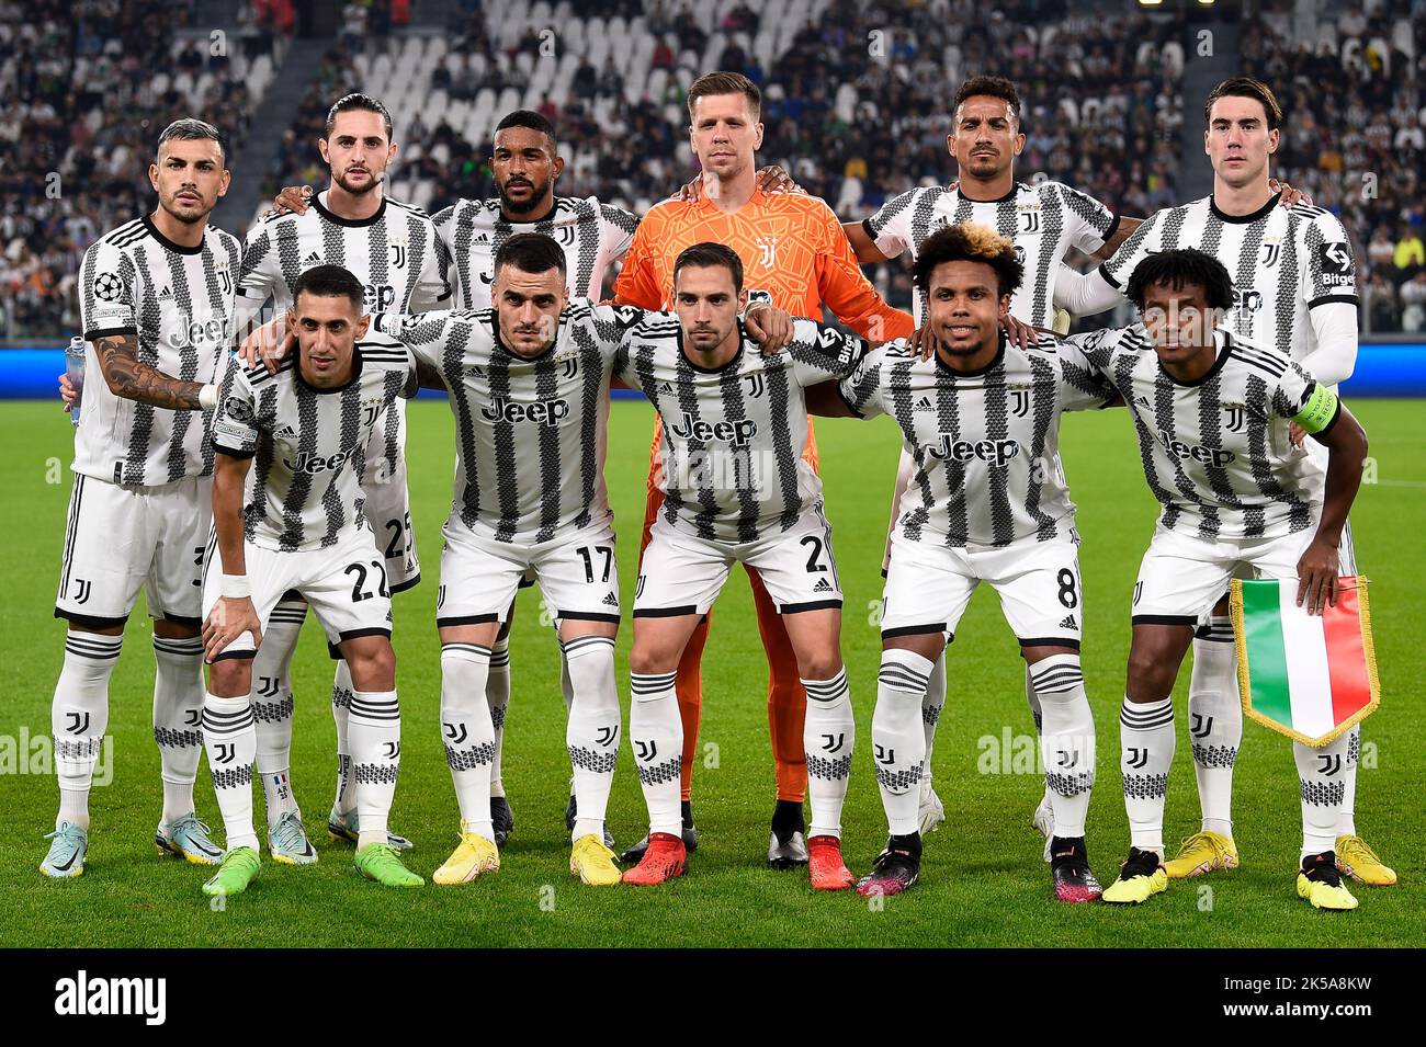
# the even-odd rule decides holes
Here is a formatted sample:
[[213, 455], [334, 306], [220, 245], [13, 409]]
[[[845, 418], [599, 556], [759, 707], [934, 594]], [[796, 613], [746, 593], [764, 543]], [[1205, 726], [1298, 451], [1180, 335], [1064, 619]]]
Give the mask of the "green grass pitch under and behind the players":
[[[0, 922], [3, 946], [1365, 946], [1426, 940], [1426, 872], [1419, 816], [1426, 697], [1416, 672], [1426, 634], [1426, 422], [1419, 402], [1362, 402], [1376, 483], [1363, 487], [1353, 533], [1363, 571], [1375, 583], [1376, 650], [1385, 691], [1363, 739], [1358, 826], [1400, 873], [1386, 890], [1358, 887], [1350, 915], [1309, 909], [1293, 890], [1299, 845], [1298, 782], [1286, 739], [1248, 724], [1238, 762], [1236, 838], [1243, 868], [1175, 883], [1127, 910], [1065, 907], [1050, 897], [1050, 876], [1030, 815], [1041, 779], [1025, 761], [1010, 773], [983, 773], [990, 746], [1012, 736], [1028, 746], [1032, 725], [1014, 640], [990, 591], [977, 594], [950, 650], [950, 697], [935, 748], [935, 782], [948, 821], [930, 836], [921, 885], [883, 907], [853, 893], [814, 895], [801, 873], [766, 868], [773, 805], [767, 741], [766, 668], [752, 600], [734, 574], [713, 615], [704, 661], [704, 722], [694, 776], [703, 846], [689, 875], [663, 889], [592, 890], [568, 872], [563, 808], [569, 764], [565, 711], [552, 631], [539, 621], [535, 591], [520, 595], [512, 642], [513, 699], [506, 722], [505, 785], [516, 829], [503, 868], [459, 889], [389, 892], [362, 880], [351, 850], [314, 832], [321, 862], [308, 869], [264, 863], [252, 890], [212, 912], [198, 886], [207, 872], [160, 858], [153, 830], [160, 812], [158, 756], [150, 731], [153, 654], [140, 608], [114, 674], [110, 732], [113, 783], [93, 798], [88, 868], [70, 882], [46, 882], [36, 866], [53, 828], [53, 775], [16, 762], [21, 732], [48, 734], [50, 695], [61, 662], [63, 625], [51, 617], [70, 489], [70, 427], [48, 403], [0, 407], [6, 491], [6, 600], [0, 651], [6, 701], [0, 714]], [[619, 526], [626, 605], [632, 603], [637, 526], [652, 412], [617, 402], [610, 412], [609, 490]], [[858, 754], [846, 812], [846, 855], [866, 872], [884, 839], [871, 775], [871, 707], [878, 634], [873, 603], [896, 463], [890, 422], [823, 420], [817, 426], [827, 511], [846, 585], [843, 650], [857, 707]], [[451, 415], [441, 402], [411, 409], [412, 506], [425, 581], [396, 601], [398, 685], [405, 711], [401, 785], [392, 826], [416, 840], [414, 868], [439, 865], [455, 843], [456, 808], [436, 724], [439, 658], [434, 603], [439, 528], [449, 507], [453, 460]], [[1128, 651], [1128, 597], [1155, 516], [1122, 412], [1071, 416], [1064, 462], [1084, 534], [1084, 667], [1099, 734], [1098, 788], [1089, 812], [1089, 855], [1114, 879], [1128, 833], [1117, 766], [1117, 708]], [[627, 718], [627, 651], [619, 637], [619, 689]], [[294, 665], [297, 729], [292, 776], [311, 829], [321, 829], [334, 783], [329, 688], [332, 667], [314, 625]], [[1186, 667], [1179, 675], [1178, 724], [1186, 722]], [[1014, 739], [1020, 739], [1018, 742]], [[1181, 739], [1182, 739], [1181, 734]], [[29, 771], [30, 773], [19, 773]], [[258, 799], [258, 811], [261, 801]], [[221, 825], [207, 772], [200, 815]], [[645, 811], [627, 746], [610, 801], [616, 839], [643, 833]], [[1169, 845], [1198, 828], [1186, 741], [1169, 786]]]

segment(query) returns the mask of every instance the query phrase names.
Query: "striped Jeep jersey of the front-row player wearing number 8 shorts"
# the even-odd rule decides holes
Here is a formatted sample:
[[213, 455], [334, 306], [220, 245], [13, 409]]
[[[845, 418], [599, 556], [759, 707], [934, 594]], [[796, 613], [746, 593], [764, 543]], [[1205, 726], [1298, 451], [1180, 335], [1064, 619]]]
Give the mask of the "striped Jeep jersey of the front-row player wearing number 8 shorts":
[[995, 360], [963, 373], [898, 339], [837, 389], [858, 417], [901, 429], [914, 467], [893, 524], [903, 537], [971, 550], [1072, 538], [1060, 415], [1114, 399], [1072, 343], [1041, 335], [1025, 350], [1001, 335]]

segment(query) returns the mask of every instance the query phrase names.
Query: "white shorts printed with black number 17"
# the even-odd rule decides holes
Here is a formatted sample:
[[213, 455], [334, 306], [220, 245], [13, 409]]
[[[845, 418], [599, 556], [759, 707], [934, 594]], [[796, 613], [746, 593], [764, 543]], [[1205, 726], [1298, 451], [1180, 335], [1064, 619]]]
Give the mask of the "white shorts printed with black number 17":
[[478, 537], [459, 517], [446, 520], [441, 533], [438, 628], [505, 621], [529, 575], [555, 620], [619, 621], [619, 567], [607, 523], [535, 544]]

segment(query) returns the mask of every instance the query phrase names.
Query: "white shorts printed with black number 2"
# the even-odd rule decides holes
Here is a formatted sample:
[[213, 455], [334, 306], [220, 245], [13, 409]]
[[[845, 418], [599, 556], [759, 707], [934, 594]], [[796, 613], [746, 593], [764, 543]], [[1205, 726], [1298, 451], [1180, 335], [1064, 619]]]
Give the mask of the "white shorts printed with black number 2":
[[707, 614], [734, 563], [757, 571], [779, 614], [841, 607], [831, 526], [819, 501], [789, 530], [744, 543], [700, 538], [660, 514], [639, 566], [633, 617]]

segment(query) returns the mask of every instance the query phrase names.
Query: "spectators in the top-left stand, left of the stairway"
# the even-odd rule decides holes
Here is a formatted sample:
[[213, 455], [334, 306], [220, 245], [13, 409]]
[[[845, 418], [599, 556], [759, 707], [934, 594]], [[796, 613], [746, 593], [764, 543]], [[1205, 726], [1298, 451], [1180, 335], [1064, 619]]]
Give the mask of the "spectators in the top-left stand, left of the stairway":
[[188, 38], [184, 3], [0, 0], [0, 338], [77, 328], [80, 259], [151, 207], [170, 121], [197, 113], [241, 142], [279, 31], [247, 16], [237, 40]]

